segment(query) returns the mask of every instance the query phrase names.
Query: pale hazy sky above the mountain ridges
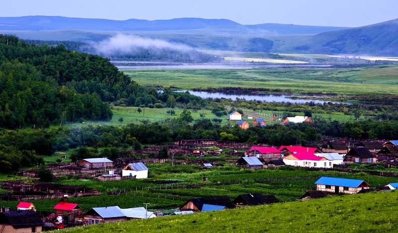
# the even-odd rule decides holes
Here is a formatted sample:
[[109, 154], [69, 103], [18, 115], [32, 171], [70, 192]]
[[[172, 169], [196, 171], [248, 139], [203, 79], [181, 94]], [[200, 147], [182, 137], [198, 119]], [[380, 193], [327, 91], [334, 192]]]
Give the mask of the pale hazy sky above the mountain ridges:
[[1, 0], [0, 16], [115, 20], [225, 18], [241, 24], [358, 27], [398, 18], [398, 0]]

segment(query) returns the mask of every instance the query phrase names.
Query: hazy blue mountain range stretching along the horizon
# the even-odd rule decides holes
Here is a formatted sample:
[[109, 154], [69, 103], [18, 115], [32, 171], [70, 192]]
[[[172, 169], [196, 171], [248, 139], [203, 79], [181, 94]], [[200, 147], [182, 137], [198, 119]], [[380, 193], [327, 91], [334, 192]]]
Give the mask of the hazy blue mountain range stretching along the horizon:
[[357, 27], [241, 25], [228, 19], [108, 20], [60, 16], [0, 17], [0, 34], [21, 39], [101, 41], [134, 34], [195, 49], [398, 57], [398, 19]]

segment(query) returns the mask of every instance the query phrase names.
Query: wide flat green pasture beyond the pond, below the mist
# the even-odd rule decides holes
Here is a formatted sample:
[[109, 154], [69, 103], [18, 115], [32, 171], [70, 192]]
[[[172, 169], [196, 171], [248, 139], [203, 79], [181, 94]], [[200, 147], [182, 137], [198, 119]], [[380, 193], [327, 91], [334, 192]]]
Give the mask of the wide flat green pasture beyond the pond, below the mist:
[[398, 94], [398, 66], [363, 68], [146, 69], [123, 70], [139, 84], [178, 89], [246, 87], [293, 93]]

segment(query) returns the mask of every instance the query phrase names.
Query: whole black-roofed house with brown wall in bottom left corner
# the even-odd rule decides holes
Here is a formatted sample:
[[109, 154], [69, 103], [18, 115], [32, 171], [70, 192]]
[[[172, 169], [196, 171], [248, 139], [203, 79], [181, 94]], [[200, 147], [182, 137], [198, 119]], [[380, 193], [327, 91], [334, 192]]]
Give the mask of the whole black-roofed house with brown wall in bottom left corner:
[[2, 233], [41, 232], [43, 225], [43, 221], [35, 211], [14, 210], [0, 213], [0, 232]]

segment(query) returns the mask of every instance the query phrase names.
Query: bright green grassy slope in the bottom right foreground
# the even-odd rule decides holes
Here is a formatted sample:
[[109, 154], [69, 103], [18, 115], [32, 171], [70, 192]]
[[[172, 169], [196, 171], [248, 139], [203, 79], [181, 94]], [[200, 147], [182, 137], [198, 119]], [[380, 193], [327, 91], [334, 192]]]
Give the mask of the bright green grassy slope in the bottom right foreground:
[[398, 192], [343, 195], [140, 221], [99, 224], [62, 232], [397, 232]]

